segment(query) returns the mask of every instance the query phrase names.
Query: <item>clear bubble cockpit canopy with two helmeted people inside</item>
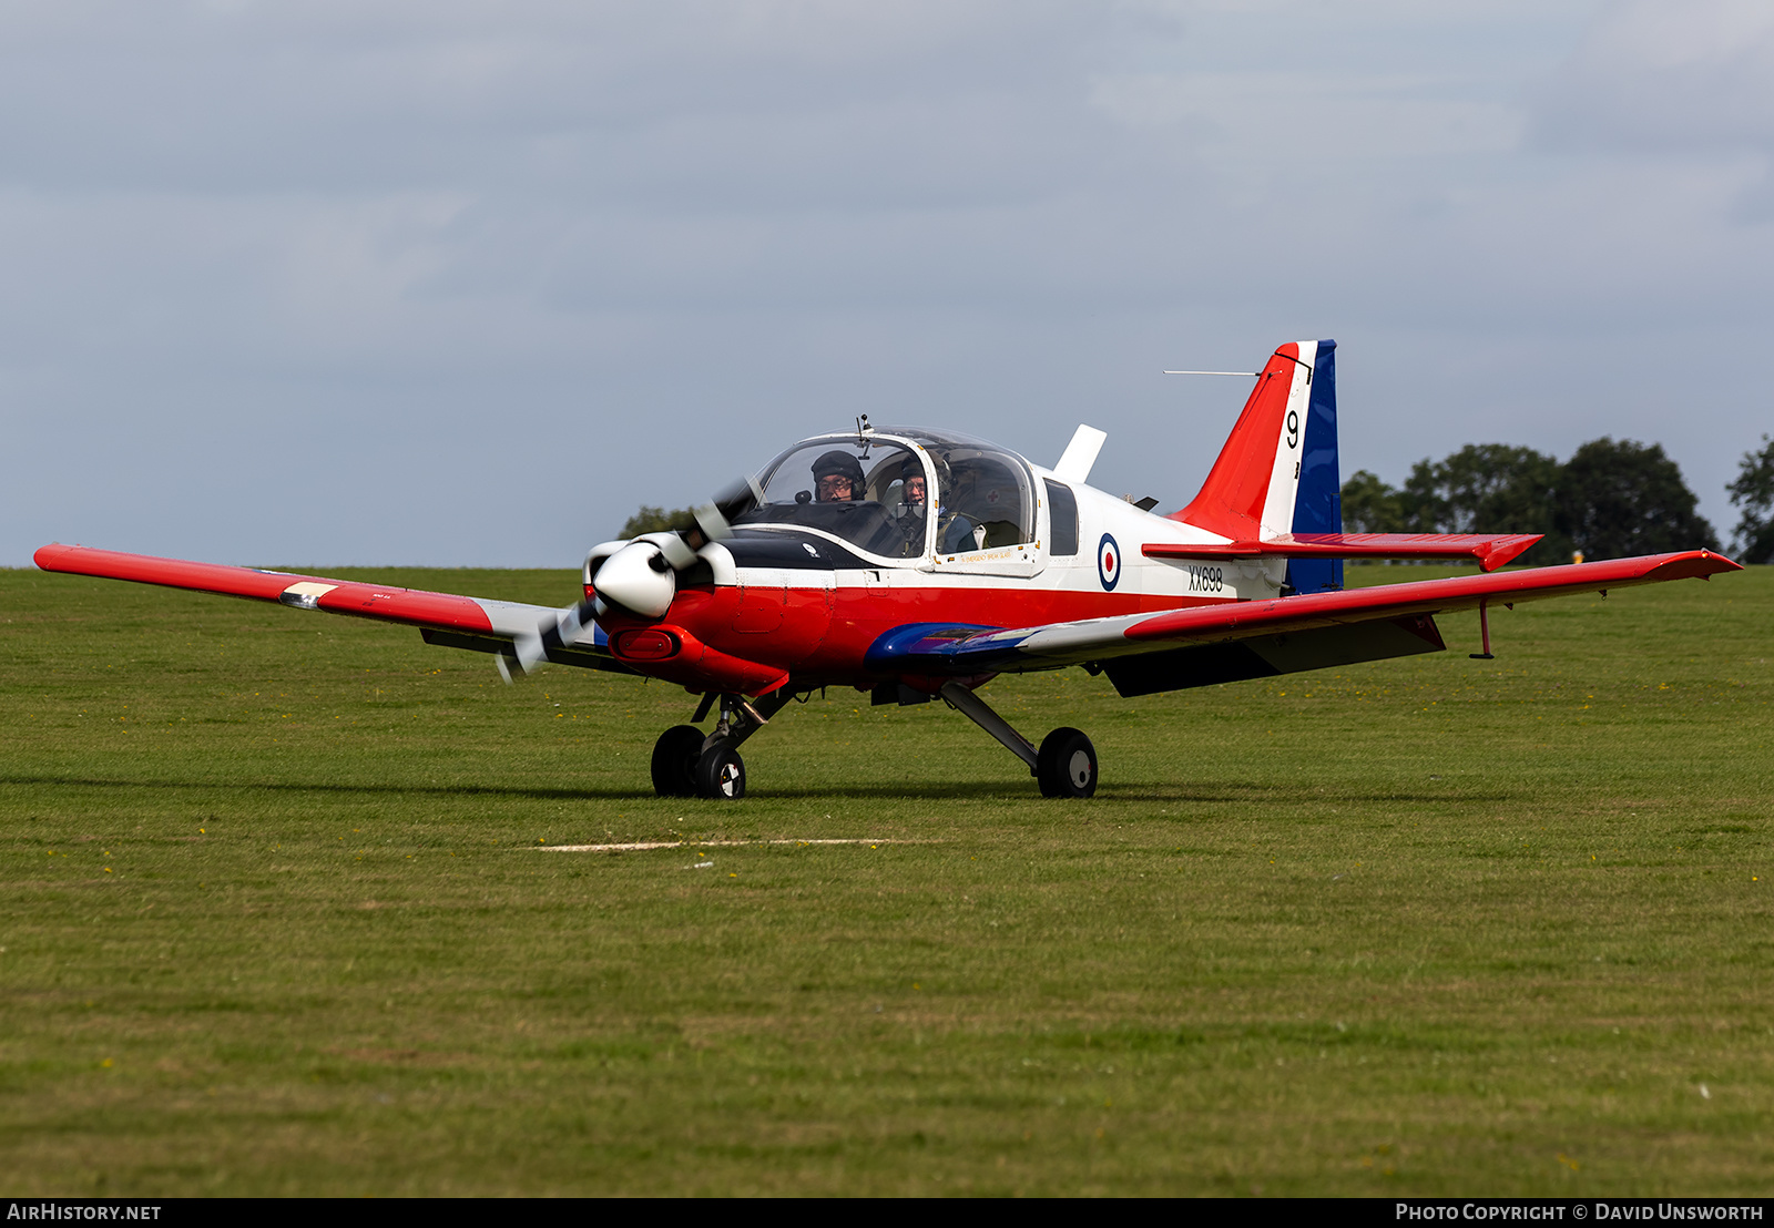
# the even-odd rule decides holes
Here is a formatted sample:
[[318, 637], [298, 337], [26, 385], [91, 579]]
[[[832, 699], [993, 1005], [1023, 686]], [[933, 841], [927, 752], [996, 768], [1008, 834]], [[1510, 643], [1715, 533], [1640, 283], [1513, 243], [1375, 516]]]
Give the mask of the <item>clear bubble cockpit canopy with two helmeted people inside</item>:
[[1027, 461], [947, 431], [887, 428], [802, 440], [757, 474], [757, 490], [763, 499], [736, 515], [734, 527], [816, 529], [883, 559], [965, 555], [1034, 539]]

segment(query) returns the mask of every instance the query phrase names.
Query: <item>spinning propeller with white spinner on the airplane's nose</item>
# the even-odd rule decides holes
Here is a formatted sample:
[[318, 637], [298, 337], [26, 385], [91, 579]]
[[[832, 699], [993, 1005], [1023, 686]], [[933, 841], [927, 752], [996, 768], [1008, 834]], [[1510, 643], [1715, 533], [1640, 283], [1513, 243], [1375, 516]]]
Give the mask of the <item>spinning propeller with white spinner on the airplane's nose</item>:
[[[619, 607], [642, 618], [663, 618], [678, 596], [678, 573], [699, 563], [695, 547], [685, 536], [720, 541], [733, 536], [733, 520], [763, 502], [765, 492], [752, 477], [740, 477], [722, 486], [715, 497], [695, 509], [697, 529], [679, 532], [644, 532], [632, 541], [605, 541], [593, 547], [585, 557], [585, 582], [596, 596], [543, 619], [534, 635], [518, 635], [513, 655], [498, 653], [498, 676], [513, 681], [511, 665], [520, 674], [532, 674], [548, 662], [550, 648], [562, 648], [578, 639], [580, 632]], [[701, 545], [701, 541], [697, 543]]]

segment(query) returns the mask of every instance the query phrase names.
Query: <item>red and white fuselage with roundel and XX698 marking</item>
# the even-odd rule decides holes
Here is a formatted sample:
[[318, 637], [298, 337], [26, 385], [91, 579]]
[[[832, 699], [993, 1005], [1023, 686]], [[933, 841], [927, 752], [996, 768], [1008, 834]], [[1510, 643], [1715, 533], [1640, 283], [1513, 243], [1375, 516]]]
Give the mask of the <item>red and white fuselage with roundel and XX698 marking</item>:
[[[809, 453], [836, 463], [834, 451], [859, 454], [864, 468], [855, 493], [866, 497], [844, 508], [814, 504], [795, 468]], [[896, 499], [917, 468], [935, 516]], [[695, 550], [662, 614], [614, 603], [598, 614], [619, 660], [692, 690], [869, 689], [892, 681], [869, 669], [869, 648], [907, 625], [1020, 628], [1173, 610], [1276, 596], [1286, 575], [1281, 559], [1146, 557], [1151, 543], [1226, 538], [949, 433], [816, 437], [761, 470], [754, 488], [756, 508]], [[621, 548], [591, 552], [587, 596]]]

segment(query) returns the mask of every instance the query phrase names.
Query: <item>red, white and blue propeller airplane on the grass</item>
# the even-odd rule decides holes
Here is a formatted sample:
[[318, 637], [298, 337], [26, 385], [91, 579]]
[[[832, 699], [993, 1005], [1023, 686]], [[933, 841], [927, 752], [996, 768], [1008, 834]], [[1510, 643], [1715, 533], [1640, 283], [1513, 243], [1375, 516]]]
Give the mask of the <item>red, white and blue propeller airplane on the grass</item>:
[[[1538, 534], [1343, 532], [1336, 342], [1277, 348], [1206, 483], [1169, 515], [1087, 484], [1103, 431], [1052, 468], [947, 429], [805, 438], [695, 509], [695, 527], [605, 541], [564, 609], [48, 545], [46, 571], [280, 602], [417, 626], [490, 653], [660, 678], [699, 696], [653, 747], [660, 797], [740, 799], [740, 745], [791, 697], [855, 687], [944, 699], [1020, 758], [1043, 797], [1087, 799], [1079, 729], [1040, 745], [979, 696], [997, 674], [1084, 667], [1148, 696], [1446, 649], [1437, 614], [1513, 609], [1742, 570], [1710, 550], [1499, 571]], [[1467, 559], [1476, 575], [1343, 589], [1352, 557]], [[718, 712], [717, 712], [718, 706]], [[699, 726], [715, 712], [710, 731]]]

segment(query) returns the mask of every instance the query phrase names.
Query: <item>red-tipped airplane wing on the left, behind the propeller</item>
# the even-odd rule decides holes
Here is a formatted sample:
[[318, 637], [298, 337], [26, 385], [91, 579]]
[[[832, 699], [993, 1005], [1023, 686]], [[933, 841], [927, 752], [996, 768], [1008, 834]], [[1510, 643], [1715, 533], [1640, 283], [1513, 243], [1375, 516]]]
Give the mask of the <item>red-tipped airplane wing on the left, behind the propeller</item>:
[[277, 602], [298, 610], [404, 623], [417, 626], [428, 644], [497, 653], [502, 664], [516, 660], [513, 648], [516, 641], [534, 641], [541, 634], [545, 655], [552, 662], [610, 669], [623, 674], [633, 673], [610, 655], [608, 637], [596, 623], [587, 621], [571, 641], [562, 642], [555, 630], [561, 610], [546, 605], [426, 593], [358, 580], [328, 580], [318, 575], [234, 568], [216, 563], [156, 559], [147, 554], [119, 554], [115, 550], [89, 550], [87, 547], [48, 545], [37, 550], [34, 563], [44, 571], [137, 580], [138, 584], [160, 584], [195, 593]]

